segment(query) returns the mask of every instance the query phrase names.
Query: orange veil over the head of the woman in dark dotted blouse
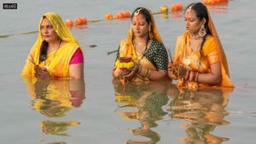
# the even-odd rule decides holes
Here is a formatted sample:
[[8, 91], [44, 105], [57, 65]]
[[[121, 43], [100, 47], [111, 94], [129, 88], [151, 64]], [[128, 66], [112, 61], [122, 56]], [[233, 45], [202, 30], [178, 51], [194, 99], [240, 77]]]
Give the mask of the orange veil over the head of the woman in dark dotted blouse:
[[[140, 13], [140, 10], [141, 9], [146, 9], [146, 8], [139, 8], [137, 9], [137, 11], [135, 13], [139, 14]], [[151, 27], [149, 28], [151, 31], [149, 31], [149, 37], [154, 39], [154, 40], [157, 40], [159, 41], [160, 43], [162, 43], [162, 39], [160, 37], [160, 34], [159, 32], [156, 30], [156, 26], [155, 26], [155, 23], [154, 23], [154, 17], [153, 17], [153, 14], [151, 13], [151, 11], [149, 9], [146, 9], [148, 10], [148, 13], [150, 14], [150, 17], [151, 17]], [[132, 19], [132, 18], [131, 18]], [[133, 31], [132, 31], [132, 24], [131, 24], [131, 27], [130, 27], [130, 30], [128, 32], [128, 37], [123, 39], [121, 42], [120, 42], [120, 48], [119, 48], [119, 56], [120, 57], [131, 57], [132, 60], [134, 61], [137, 61], [137, 52], [136, 50], [134, 49], [133, 47], [133, 43], [132, 43], [132, 40], [133, 40]], [[146, 58], [143, 58], [143, 59], [146, 59]], [[143, 60], [142, 60], [143, 61]], [[148, 60], [148, 62], [150, 63], [150, 61]], [[150, 63], [151, 64], [151, 63]], [[143, 65], [142, 63], [140, 63], [139, 65]], [[152, 64], [151, 64], [152, 65]], [[154, 67], [154, 65], [152, 66], [149, 66], [148, 67], [150, 70], [155, 70], [156, 68]]]

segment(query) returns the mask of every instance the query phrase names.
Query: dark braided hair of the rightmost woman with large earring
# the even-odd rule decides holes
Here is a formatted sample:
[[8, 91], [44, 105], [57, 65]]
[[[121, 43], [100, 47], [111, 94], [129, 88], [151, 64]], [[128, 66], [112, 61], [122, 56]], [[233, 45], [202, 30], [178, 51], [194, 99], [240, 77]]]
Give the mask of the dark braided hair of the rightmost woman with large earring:
[[[204, 18], [206, 19], [206, 23], [204, 25], [205, 28], [206, 28], [206, 32], [207, 32], [207, 34], [212, 34], [210, 32], [210, 29], [209, 29], [209, 26], [208, 26], [209, 17], [208, 17], [208, 13], [207, 13], [207, 7], [202, 3], [191, 3], [185, 9], [185, 12], [187, 11], [187, 9], [189, 9], [189, 7], [191, 7], [191, 10], [195, 11], [196, 17], [199, 20], [203, 20]], [[202, 47], [203, 47], [204, 43], [206, 42], [206, 36], [203, 37], [203, 41], [201, 43], [201, 50], [200, 50], [201, 55], [203, 55]]]

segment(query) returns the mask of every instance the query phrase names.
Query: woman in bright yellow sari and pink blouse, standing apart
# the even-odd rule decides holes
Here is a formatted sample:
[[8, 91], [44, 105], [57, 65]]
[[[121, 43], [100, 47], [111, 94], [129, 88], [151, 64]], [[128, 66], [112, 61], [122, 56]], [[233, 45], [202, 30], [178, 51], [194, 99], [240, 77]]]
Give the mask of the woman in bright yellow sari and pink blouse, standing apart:
[[72, 33], [55, 13], [42, 16], [38, 40], [32, 46], [21, 76], [84, 78], [84, 54]]

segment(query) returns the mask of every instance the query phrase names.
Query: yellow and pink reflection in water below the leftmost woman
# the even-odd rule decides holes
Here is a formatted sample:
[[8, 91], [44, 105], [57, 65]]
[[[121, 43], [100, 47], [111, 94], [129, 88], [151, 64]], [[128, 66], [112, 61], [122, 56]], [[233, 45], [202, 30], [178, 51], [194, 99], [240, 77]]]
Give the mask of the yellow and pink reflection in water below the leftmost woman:
[[[30, 106], [47, 118], [65, 117], [67, 111], [73, 107], [80, 107], [85, 98], [84, 80], [37, 81], [34, 78], [24, 78], [24, 80], [27, 90], [31, 92], [28, 96], [33, 100]], [[50, 120], [39, 123], [44, 134], [62, 136], [67, 136], [65, 132], [67, 127], [77, 124], [79, 124], [78, 121]]]

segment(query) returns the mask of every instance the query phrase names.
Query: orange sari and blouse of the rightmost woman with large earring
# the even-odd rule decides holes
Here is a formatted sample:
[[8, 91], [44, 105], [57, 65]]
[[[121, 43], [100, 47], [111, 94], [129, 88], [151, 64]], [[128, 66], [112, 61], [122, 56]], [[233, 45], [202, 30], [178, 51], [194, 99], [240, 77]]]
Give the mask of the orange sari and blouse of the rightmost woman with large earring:
[[[208, 10], [207, 13], [209, 17], [208, 26], [210, 32], [212, 33], [212, 37], [209, 37], [202, 47], [204, 55], [201, 56], [200, 51], [194, 52], [191, 49], [189, 44], [189, 32], [184, 32], [183, 36], [177, 37], [176, 50], [173, 56], [173, 61], [181, 63], [188, 70], [194, 70], [201, 73], [211, 72], [210, 66], [220, 62], [222, 81], [217, 86], [234, 87], [230, 81], [229, 66], [224, 54], [224, 49], [218, 39], [218, 33], [212, 23], [212, 19]], [[186, 60], [189, 60], [189, 65], [186, 64]], [[177, 86], [187, 87], [189, 89], [197, 89], [198, 87], [206, 87], [209, 85], [189, 82], [184, 78], [178, 78]]]

